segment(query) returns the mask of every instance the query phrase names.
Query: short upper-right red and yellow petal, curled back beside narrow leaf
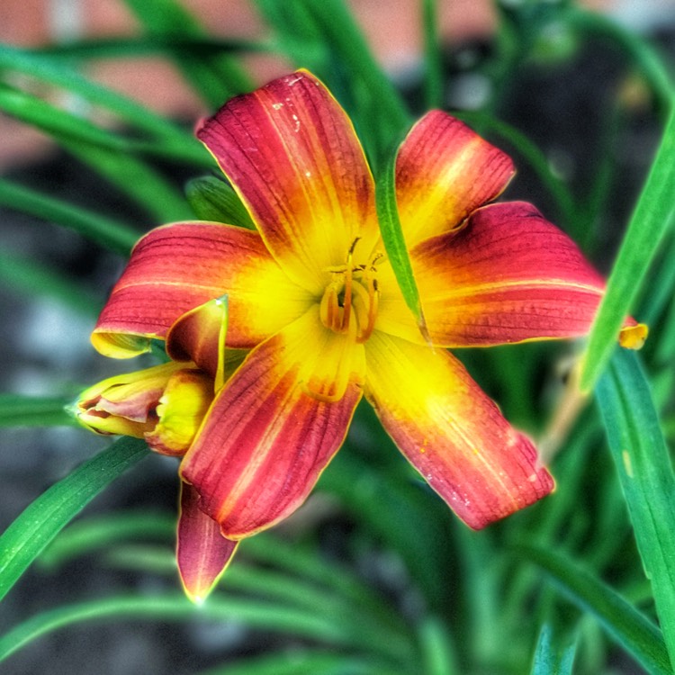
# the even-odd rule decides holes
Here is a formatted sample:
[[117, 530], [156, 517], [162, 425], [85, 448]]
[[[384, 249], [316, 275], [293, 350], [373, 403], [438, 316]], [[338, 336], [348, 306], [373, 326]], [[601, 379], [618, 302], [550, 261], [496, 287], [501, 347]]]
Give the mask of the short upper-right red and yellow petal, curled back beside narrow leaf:
[[464, 122], [428, 112], [396, 160], [396, 199], [408, 246], [460, 225], [499, 196], [514, 173], [509, 156]]

